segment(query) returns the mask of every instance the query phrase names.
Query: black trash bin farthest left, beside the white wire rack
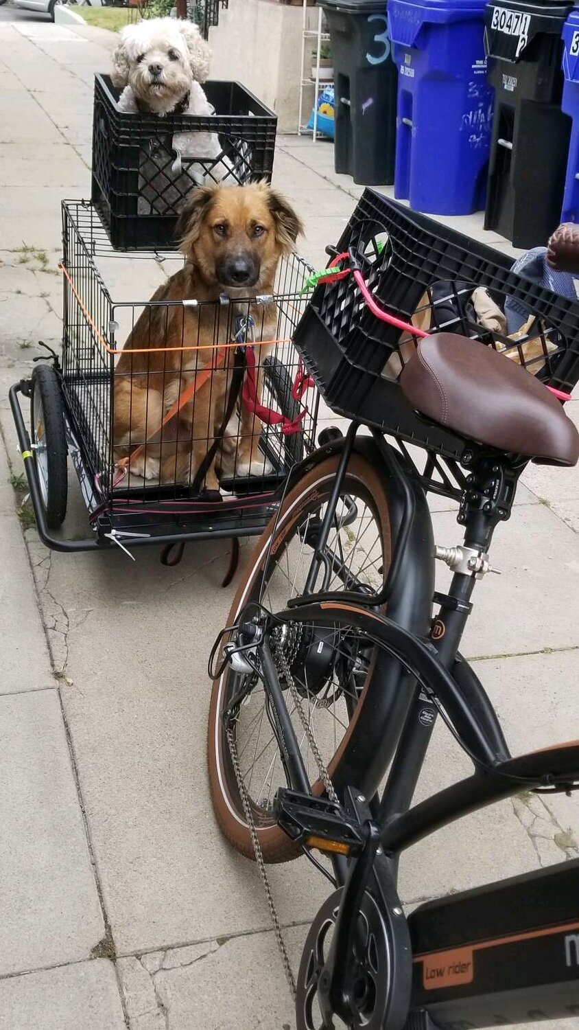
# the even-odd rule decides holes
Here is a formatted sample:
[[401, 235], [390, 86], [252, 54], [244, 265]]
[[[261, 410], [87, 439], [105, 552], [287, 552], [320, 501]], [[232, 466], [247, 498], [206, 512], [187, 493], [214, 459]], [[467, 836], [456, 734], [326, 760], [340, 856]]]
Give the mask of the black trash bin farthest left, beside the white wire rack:
[[336, 172], [363, 185], [394, 182], [398, 72], [386, 0], [320, 0], [334, 66]]

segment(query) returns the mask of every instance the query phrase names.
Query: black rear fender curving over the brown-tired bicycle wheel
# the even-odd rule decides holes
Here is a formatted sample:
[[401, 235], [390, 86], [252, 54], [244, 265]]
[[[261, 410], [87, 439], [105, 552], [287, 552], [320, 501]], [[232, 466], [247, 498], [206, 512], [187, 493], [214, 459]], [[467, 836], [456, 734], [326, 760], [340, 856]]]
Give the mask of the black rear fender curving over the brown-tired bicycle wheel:
[[[286, 489], [330, 455], [339, 453], [345, 438], [314, 451], [297, 466]], [[425, 491], [413, 468], [384, 437], [357, 436], [354, 450], [379, 469], [389, 499], [393, 559], [403, 538], [399, 568], [388, 598], [388, 617], [418, 637], [427, 639], [432, 620], [434, 594], [434, 537]], [[415, 679], [385, 652], [376, 651], [366, 684], [364, 703], [338, 767], [332, 774], [338, 793], [356, 784], [371, 797], [392, 760], [404, 719], [414, 694]]]

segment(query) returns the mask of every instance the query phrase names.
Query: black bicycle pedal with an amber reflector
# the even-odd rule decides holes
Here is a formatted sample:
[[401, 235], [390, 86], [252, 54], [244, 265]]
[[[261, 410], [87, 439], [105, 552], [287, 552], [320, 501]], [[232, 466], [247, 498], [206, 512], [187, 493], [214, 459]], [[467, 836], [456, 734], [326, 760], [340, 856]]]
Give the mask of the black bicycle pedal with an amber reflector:
[[364, 849], [365, 827], [335, 801], [280, 787], [274, 800], [276, 822], [296, 844], [338, 855]]

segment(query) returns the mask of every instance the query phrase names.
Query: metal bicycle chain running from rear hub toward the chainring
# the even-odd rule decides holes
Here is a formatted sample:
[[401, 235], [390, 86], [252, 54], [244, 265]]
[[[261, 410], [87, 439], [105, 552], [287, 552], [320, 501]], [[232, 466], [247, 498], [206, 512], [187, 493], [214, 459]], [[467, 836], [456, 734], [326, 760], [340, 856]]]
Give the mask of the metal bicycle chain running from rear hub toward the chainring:
[[[281, 672], [283, 673], [283, 676], [284, 676], [284, 678], [285, 678], [285, 680], [287, 682], [290, 694], [292, 696], [292, 700], [293, 700], [293, 702], [295, 705], [295, 708], [296, 708], [298, 716], [299, 716], [299, 720], [300, 720], [301, 725], [303, 727], [303, 731], [304, 731], [304, 733], [305, 733], [305, 735], [307, 737], [307, 743], [309, 743], [309, 745], [310, 745], [310, 747], [312, 749], [312, 753], [314, 755], [314, 758], [316, 759], [316, 763], [318, 765], [318, 771], [320, 774], [320, 778], [322, 780], [322, 783], [324, 784], [326, 793], [327, 793], [327, 795], [328, 795], [328, 797], [329, 797], [329, 799], [331, 801], [334, 801], [334, 802], [337, 803], [337, 800], [338, 800], [337, 794], [336, 794], [336, 792], [334, 790], [334, 787], [333, 787], [333, 784], [332, 784], [332, 782], [330, 780], [329, 772], [328, 772], [328, 770], [327, 770], [327, 768], [326, 768], [326, 766], [324, 764], [324, 760], [322, 758], [322, 755], [320, 754], [320, 749], [319, 749], [318, 744], [316, 742], [316, 737], [314, 736], [314, 730], [312, 729], [312, 726], [310, 725], [310, 721], [307, 720], [307, 718], [305, 716], [305, 713], [303, 712], [303, 709], [301, 707], [301, 698], [299, 696], [299, 693], [298, 693], [297, 687], [295, 685], [293, 676], [291, 674], [291, 671], [290, 671], [288, 661], [286, 659], [286, 656], [285, 656], [284, 652], [280, 649], [280, 650], [277, 651], [275, 657], [277, 659], [276, 664], [279, 663], [279, 665], [281, 666]], [[263, 858], [263, 852], [261, 851], [261, 845], [259, 844], [259, 837], [257, 835], [257, 829], [255, 827], [255, 820], [253, 818], [253, 813], [251, 811], [251, 804], [250, 804], [250, 800], [249, 800], [249, 795], [248, 795], [248, 792], [247, 792], [246, 785], [244, 783], [244, 779], [242, 777], [242, 771], [241, 771], [241, 768], [240, 768], [240, 760], [239, 760], [239, 755], [238, 755], [238, 749], [237, 749], [236, 741], [234, 741], [234, 737], [233, 737], [233, 730], [231, 728], [231, 725], [227, 726], [226, 736], [227, 736], [227, 744], [229, 746], [229, 753], [231, 755], [231, 762], [232, 762], [232, 765], [233, 765], [233, 772], [236, 775], [236, 780], [238, 782], [238, 788], [239, 788], [239, 791], [240, 791], [240, 797], [242, 799], [242, 808], [244, 810], [244, 815], [245, 815], [245, 818], [246, 818], [246, 821], [247, 821], [247, 825], [248, 825], [248, 828], [249, 828], [249, 835], [251, 837], [251, 846], [253, 848], [253, 853], [255, 855], [255, 862], [256, 862], [256, 865], [257, 865], [257, 867], [259, 869], [259, 876], [261, 877], [261, 883], [263, 884], [263, 889], [265, 891], [265, 897], [267, 898], [267, 905], [268, 905], [268, 908], [269, 908], [269, 918], [272, 920], [272, 926], [274, 927], [274, 933], [276, 935], [276, 940], [277, 940], [278, 949], [279, 949], [279, 952], [280, 952], [280, 955], [281, 955], [281, 958], [282, 958], [282, 963], [283, 963], [284, 971], [285, 971], [286, 978], [287, 978], [287, 982], [288, 982], [288, 985], [289, 985], [290, 993], [291, 993], [293, 1002], [295, 1003], [295, 997], [296, 997], [295, 977], [293, 975], [293, 970], [291, 968], [291, 963], [290, 963], [289, 956], [288, 956], [288, 950], [287, 950], [287, 947], [286, 947], [286, 942], [284, 940], [284, 935], [282, 933], [282, 928], [280, 926], [280, 921], [278, 919], [278, 913], [277, 913], [277, 909], [276, 909], [276, 904], [275, 904], [275, 901], [274, 901], [274, 895], [273, 895], [273, 892], [272, 892], [272, 885], [269, 883], [269, 878], [267, 876], [267, 869], [265, 867], [265, 860]]]

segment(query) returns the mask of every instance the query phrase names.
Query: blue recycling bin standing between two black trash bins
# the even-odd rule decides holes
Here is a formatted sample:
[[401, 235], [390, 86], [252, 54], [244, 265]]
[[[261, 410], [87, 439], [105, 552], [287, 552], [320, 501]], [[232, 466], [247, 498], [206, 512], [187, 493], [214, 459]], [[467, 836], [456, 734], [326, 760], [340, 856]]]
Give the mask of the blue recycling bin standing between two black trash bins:
[[429, 214], [484, 207], [494, 91], [484, 0], [389, 0], [398, 66], [394, 195]]

